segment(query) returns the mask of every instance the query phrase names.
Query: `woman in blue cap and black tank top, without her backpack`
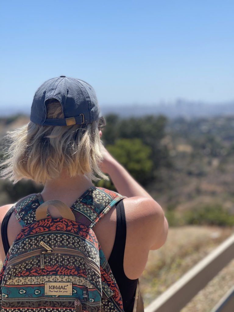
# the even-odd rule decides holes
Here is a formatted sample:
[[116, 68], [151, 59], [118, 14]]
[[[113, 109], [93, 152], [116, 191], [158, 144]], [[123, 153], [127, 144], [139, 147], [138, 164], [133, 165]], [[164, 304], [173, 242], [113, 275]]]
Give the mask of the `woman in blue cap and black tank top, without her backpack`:
[[[11, 145], [2, 176], [43, 183], [43, 202], [56, 199], [69, 207], [94, 189], [92, 180], [97, 176], [110, 176], [126, 198], [93, 229], [119, 286], [124, 311], [132, 311], [149, 250], [160, 248], [167, 237], [162, 208], [102, 146], [100, 128], [105, 121], [89, 84], [65, 76], [46, 81], [34, 96], [30, 120], [8, 134]], [[1, 224], [12, 205], [1, 207]], [[53, 218], [60, 216], [52, 206], [49, 213]], [[9, 246], [21, 228], [12, 213], [7, 225]], [[4, 261], [2, 240], [0, 253]]]

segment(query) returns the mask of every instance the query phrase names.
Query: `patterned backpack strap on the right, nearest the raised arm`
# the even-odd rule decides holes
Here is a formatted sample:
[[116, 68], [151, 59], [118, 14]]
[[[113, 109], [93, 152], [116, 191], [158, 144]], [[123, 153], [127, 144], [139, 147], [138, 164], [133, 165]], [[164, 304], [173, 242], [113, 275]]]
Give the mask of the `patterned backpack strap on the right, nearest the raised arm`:
[[90, 188], [71, 208], [76, 221], [93, 228], [123, 198], [125, 196], [105, 188]]

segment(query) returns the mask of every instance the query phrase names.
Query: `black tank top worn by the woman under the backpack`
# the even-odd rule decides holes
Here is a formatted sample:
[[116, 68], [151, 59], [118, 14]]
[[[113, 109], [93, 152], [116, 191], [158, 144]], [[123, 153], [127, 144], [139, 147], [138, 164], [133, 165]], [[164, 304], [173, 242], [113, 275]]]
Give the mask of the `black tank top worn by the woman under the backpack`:
[[[2, 220], [1, 234], [5, 254], [7, 254], [10, 248], [7, 239], [7, 224], [12, 212], [13, 207], [6, 213], [5, 217]], [[119, 290], [122, 295], [124, 311], [132, 312], [138, 279], [130, 280], [124, 273], [124, 250], [125, 250], [127, 227], [123, 200], [121, 200], [116, 204], [116, 215], [117, 222], [116, 222], [115, 242], [108, 263], [110, 265], [113, 275], [115, 276], [115, 280], [119, 286]]]

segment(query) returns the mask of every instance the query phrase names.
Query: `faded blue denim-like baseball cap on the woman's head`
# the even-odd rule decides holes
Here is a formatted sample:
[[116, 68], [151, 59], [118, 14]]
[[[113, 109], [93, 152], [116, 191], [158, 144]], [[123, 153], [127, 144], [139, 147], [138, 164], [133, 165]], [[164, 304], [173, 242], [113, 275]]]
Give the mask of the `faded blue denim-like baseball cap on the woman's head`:
[[[64, 119], [46, 118], [46, 101], [51, 99], [60, 102]], [[95, 91], [83, 80], [66, 76], [53, 78], [44, 82], [34, 95], [30, 120], [35, 124], [70, 126], [88, 124], [98, 119], [105, 125]]]

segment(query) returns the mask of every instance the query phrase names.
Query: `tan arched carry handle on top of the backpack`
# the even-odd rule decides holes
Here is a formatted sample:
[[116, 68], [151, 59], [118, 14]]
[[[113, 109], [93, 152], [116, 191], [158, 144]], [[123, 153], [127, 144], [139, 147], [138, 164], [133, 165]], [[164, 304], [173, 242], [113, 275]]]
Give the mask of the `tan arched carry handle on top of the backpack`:
[[76, 221], [74, 213], [71, 209], [60, 200], [47, 200], [47, 202], [43, 202], [37, 210], [36, 210], [36, 220], [46, 219], [47, 218], [47, 209], [49, 206], [54, 206], [57, 208], [59, 213], [64, 219], [69, 219], [71, 221]]

